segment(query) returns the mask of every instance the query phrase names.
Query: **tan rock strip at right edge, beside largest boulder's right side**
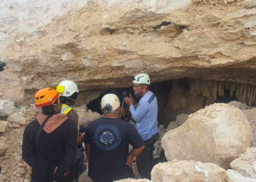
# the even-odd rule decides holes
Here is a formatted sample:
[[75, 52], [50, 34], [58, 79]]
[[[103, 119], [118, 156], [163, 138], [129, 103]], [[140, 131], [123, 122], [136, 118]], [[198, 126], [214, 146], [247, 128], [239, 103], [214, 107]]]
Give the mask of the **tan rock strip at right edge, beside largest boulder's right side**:
[[246, 118], [248, 119], [251, 127], [252, 127], [252, 147], [256, 147], [256, 108], [250, 110], [243, 110]]

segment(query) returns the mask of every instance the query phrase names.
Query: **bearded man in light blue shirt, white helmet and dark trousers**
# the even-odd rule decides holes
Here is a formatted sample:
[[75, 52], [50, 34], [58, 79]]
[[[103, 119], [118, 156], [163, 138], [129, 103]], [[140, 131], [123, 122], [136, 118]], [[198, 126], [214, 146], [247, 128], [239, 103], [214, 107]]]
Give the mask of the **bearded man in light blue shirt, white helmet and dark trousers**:
[[149, 85], [149, 75], [144, 73], [136, 75], [133, 78], [133, 91], [135, 97], [139, 99], [138, 106], [134, 106], [135, 102], [131, 94], [124, 100], [129, 105], [129, 111], [146, 146], [146, 149], [136, 157], [136, 164], [140, 177], [147, 179], [151, 179], [150, 172], [154, 166], [154, 143], [158, 138], [157, 98], [148, 90]]

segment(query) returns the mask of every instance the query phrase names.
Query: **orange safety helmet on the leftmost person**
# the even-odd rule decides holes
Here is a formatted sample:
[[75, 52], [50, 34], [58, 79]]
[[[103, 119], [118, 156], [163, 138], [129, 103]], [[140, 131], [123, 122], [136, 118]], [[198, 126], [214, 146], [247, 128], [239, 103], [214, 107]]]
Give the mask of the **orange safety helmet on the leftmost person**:
[[59, 97], [59, 92], [53, 88], [43, 88], [35, 94], [35, 106], [43, 107], [52, 105]]

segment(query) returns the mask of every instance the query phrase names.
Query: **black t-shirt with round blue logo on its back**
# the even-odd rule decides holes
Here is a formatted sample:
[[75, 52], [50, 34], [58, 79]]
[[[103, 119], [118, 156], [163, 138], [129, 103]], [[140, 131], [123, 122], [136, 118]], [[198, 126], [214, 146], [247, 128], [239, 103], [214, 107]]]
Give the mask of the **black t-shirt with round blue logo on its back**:
[[134, 149], [144, 145], [132, 124], [121, 119], [99, 118], [86, 128], [85, 144], [91, 146], [89, 177], [94, 181], [112, 182], [134, 178], [126, 164], [129, 143]]

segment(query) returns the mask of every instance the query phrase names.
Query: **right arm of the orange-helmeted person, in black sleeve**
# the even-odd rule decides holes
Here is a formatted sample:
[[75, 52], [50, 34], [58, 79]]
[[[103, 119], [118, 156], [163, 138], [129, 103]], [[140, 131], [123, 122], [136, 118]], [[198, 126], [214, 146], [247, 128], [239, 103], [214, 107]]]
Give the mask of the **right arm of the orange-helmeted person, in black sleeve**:
[[61, 162], [59, 163], [56, 171], [57, 176], [63, 176], [74, 164], [77, 148], [77, 129], [75, 123], [71, 122], [67, 142], [65, 146], [65, 154]]

